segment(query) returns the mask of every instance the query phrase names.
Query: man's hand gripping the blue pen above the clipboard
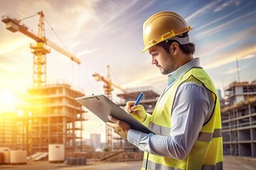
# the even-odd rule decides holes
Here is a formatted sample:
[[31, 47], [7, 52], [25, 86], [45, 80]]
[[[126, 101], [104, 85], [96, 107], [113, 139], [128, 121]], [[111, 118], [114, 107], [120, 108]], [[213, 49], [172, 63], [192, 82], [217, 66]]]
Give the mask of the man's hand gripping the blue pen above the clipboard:
[[124, 110], [142, 123], [146, 119], [146, 111], [142, 105], [134, 106], [134, 103], [134, 101], [128, 101]]

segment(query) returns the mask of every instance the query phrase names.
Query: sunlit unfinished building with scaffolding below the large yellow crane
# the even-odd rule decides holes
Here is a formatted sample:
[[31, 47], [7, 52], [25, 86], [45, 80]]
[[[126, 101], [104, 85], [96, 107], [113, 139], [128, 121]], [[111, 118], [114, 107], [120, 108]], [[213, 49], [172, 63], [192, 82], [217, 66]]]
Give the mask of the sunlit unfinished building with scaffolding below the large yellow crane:
[[82, 150], [82, 128], [85, 111], [76, 97], [85, 96], [70, 84], [47, 84], [28, 89], [23, 107], [27, 124], [28, 154], [48, 152], [48, 145], [63, 144], [65, 152]]

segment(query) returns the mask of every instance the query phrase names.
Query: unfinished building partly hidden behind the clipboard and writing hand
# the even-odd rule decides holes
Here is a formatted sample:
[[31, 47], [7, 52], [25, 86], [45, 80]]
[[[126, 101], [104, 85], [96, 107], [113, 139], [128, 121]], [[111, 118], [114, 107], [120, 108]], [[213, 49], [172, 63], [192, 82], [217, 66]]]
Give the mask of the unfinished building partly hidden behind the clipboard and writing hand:
[[[139, 102], [142, 106], [144, 106], [145, 111], [147, 113], [153, 113], [154, 107], [156, 106], [156, 101], [160, 96], [159, 91], [154, 89], [152, 86], [143, 86], [131, 89], [125, 89], [126, 93], [117, 94], [120, 98], [119, 106], [124, 109], [127, 101], [135, 101], [141, 92], [143, 92], [142, 101]], [[139, 149], [131, 145], [127, 140], [119, 137], [118, 135], [114, 135], [112, 138], [113, 150], [124, 150], [126, 152], [137, 152]]]

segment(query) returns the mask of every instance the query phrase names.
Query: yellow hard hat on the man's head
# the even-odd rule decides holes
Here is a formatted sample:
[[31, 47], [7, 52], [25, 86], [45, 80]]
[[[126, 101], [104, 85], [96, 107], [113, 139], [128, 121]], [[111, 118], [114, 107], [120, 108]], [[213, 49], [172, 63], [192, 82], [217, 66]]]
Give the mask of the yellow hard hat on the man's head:
[[192, 28], [177, 13], [169, 11], [156, 13], [143, 24], [144, 49], [142, 53], [164, 40], [177, 40], [180, 44], [187, 44], [189, 37], [180, 38], [176, 36], [189, 30], [192, 30]]

